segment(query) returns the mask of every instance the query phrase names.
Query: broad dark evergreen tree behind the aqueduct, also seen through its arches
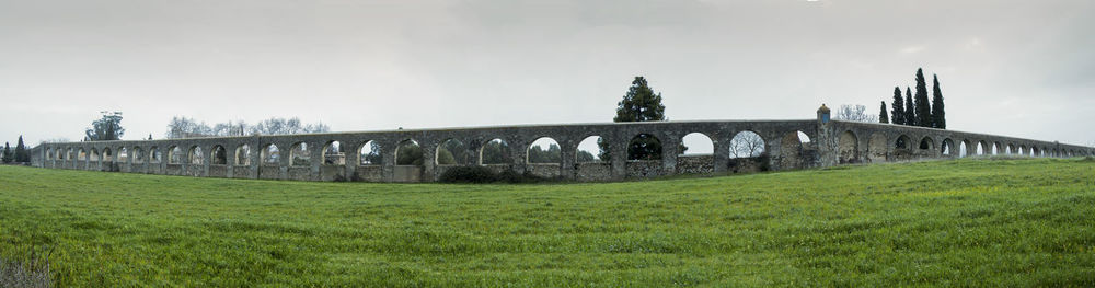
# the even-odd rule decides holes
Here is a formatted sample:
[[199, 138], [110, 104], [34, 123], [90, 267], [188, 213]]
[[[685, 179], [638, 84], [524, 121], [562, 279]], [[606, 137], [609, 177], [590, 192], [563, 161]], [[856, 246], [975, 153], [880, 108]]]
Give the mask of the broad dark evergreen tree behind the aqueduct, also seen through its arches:
[[[666, 120], [666, 106], [661, 105], [661, 93], [654, 93], [646, 78], [636, 76], [635, 80], [631, 81], [631, 88], [623, 95], [623, 100], [616, 104], [616, 116], [612, 122], [657, 120]], [[598, 141], [597, 145], [600, 147], [600, 158], [609, 161], [612, 155], [609, 153], [608, 142]], [[643, 134], [627, 146], [627, 151], [634, 159], [661, 159], [661, 142]]]

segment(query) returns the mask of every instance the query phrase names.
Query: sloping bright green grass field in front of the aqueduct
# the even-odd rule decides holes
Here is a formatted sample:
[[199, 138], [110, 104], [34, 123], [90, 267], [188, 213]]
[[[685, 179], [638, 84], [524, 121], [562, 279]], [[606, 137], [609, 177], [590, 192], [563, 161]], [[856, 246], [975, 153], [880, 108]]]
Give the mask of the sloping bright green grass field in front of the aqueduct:
[[1095, 161], [569, 185], [0, 168], [60, 286], [1095, 286]]

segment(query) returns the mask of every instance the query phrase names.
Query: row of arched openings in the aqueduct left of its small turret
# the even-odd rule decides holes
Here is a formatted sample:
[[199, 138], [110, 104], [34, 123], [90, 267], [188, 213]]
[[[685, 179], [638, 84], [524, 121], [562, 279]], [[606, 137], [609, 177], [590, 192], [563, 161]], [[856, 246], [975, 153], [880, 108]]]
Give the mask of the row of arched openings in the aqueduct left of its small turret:
[[[797, 157], [797, 152], [795, 151], [799, 151], [804, 143], [809, 142], [810, 139], [805, 133], [794, 131], [782, 138], [781, 146], [784, 147], [784, 154], [787, 154], [785, 158], [793, 159]], [[323, 165], [382, 164], [384, 149], [380, 142], [370, 140], [358, 147], [357, 151], [353, 151], [357, 153], [357, 162], [348, 163], [350, 159], [354, 159], [348, 157], [348, 153], [353, 152], [345, 151], [343, 149], [344, 145], [341, 141], [327, 141], [321, 148], [322, 151], [319, 154], [322, 157], [321, 163]], [[759, 134], [751, 130], [742, 130], [731, 138], [726, 151], [728, 151], [727, 157], [730, 159], [757, 158], [766, 152], [766, 147], [768, 143]], [[68, 148], [58, 151], [47, 149], [46, 159], [62, 161], [118, 161], [135, 164], [161, 162], [166, 162], [168, 164], [205, 164], [209, 161], [209, 164], [214, 165], [251, 165], [252, 153], [258, 153], [256, 160], [260, 161], [261, 165], [280, 165], [281, 158], [288, 157], [288, 164], [290, 166], [307, 166], [311, 165], [311, 149], [314, 148], [309, 147], [308, 142], [301, 141], [291, 145], [288, 150], [283, 150], [283, 147], [278, 147], [275, 143], [267, 143], [261, 149], [253, 149], [250, 145], [243, 143], [234, 149], [233, 159], [228, 159], [227, 148], [222, 145], [212, 146], [209, 149], [210, 151], [205, 151], [201, 146], [196, 145], [186, 148], [169, 146], [162, 149], [162, 151], [157, 146], [151, 146], [147, 150], [139, 146], [120, 147], [118, 148], [117, 159], [115, 159], [110, 148], [104, 148], [102, 152], [94, 148], [90, 150]], [[395, 165], [422, 165], [423, 161], [431, 161], [435, 165], [515, 163], [515, 159], [512, 159], [514, 153], [511, 153], [512, 148], [506, 140], [500, 138], [488, 140], [476, 147], [464, 143], [459, 139], [449, 138], [442, 140], [440, 145], [434, 148], [436, 150], [433, 153], [434, 158], [430, 160], [422, 159], [424, 154], [422, 149], [418, 141], [413, 138], [400, 141], [396, 143], [396, 149], [394, 150]], [[537, 138], [525, 149], [527, 149], [527, 152], [523, 153], [525, 159], [521, 159], [523, 163], [551, 164], [563, 162], [563, 149], [554, 138]], [[611, 149], [611, 145], [604, 138], [596, 135], [588, 136], [577, 145], [576, 152], [567, 157], [574, 157], [574, 162], [576, 163], [607, 162], [612, 157]], [[683, 157], [713, 155], [715, 143], [706, 134], [691, 133], [681, 138], [681, 145], [677, 150], [678, 154]], [[626, 152], [626, 160], [661, 159], [661, 140], [650, 134], [635, 135], [627, 143]]]

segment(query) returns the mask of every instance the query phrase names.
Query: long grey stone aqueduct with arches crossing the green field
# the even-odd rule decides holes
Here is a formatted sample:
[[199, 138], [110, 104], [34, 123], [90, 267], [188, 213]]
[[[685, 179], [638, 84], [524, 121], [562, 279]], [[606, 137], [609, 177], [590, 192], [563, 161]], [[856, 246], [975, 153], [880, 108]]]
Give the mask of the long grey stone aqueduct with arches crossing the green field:
[[[731, 158], [735, 136], [751, 131], [763, 139], [763, 155]], [[679, 154], [685, 135], [706, 136], [714, 152]], [[657, 138], [660, 160], [578, 161], [580, 141], [599, 136], [613, 155], [627, 153], [638, 135]], [[802, 141], [799, 135], [809, 141]], [[530, 163], [533, 141], [551, 138], [560, 146], [557, 163]], [[482, 164], [484, 143], [500, 139], [510, 147], [507, 163]], [[469, 161], [492, 170], [531, 173], [569, 181], [620, 181], [684, 173], [733, 173], [749, 170], [793, 170], [845, 163], [947, 159], [978, 154], [1080, 157], [1095, 149], [1059, 142], [994, 135], [874, 123], [829, 120], [819, 110], [806, 120], [701, 120], [529, 125], [504, 127], [408, 129], [279, 136], [241, 136], [139, 141], [43, 143], [32, 150], [42, 168], [298, 181], [434, 182], [457, 165], [438, 164], [438, 148], [447, 140], [465, 143]], [[422, 148], [420, 165], [396, 165], [397, 147], [413, 141]], [[341, 153], [332, 161], [332, 143]], [[379, 146], [380, 158], [364, 161], [362, 148]], [[276, 147], [273, 152], [270, 146]], [[307, 147], [310, 149], [299, 149]], [[257, 149], [255, 149], [257, 148]], [[285, 148], [289, 148], [285, 150]], [[316, 149], [320, 148], [320, 149]], [[300, 152], [298, 152], [300, 151]], [[288, 155], [285, 155], [288, 153]], [[465, 163], [466, 164], [466, 163]]]

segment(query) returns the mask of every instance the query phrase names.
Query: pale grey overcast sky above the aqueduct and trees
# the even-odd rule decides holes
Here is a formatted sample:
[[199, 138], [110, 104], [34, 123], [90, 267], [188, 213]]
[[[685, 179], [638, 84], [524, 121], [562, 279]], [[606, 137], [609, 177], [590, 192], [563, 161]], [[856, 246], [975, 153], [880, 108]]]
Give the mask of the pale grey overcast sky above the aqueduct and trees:
[[[0, 139], [184, 115], [376, 130], [878, 112], [923, 67], [948, 128], [1095, 142], [1095, 1], [0, 0]], [[930, 84], [930, 83], [929, 83]]]

